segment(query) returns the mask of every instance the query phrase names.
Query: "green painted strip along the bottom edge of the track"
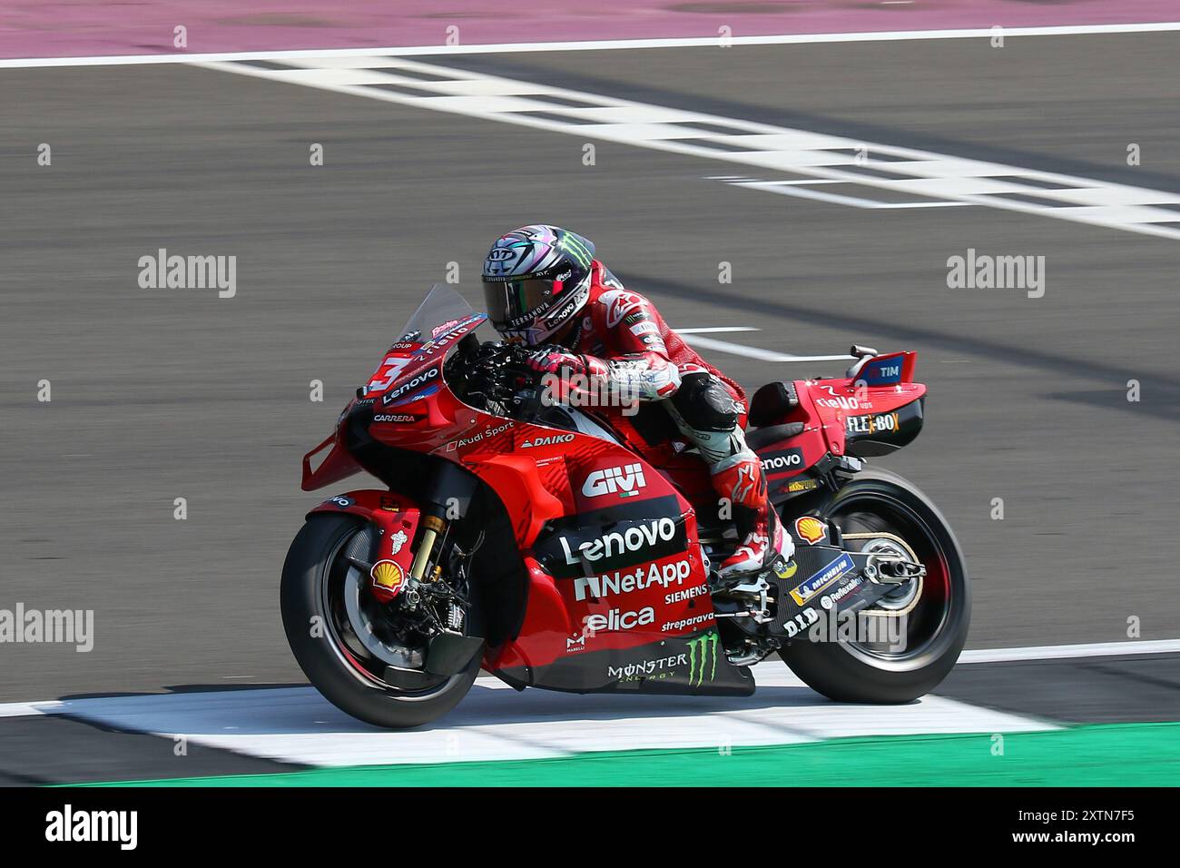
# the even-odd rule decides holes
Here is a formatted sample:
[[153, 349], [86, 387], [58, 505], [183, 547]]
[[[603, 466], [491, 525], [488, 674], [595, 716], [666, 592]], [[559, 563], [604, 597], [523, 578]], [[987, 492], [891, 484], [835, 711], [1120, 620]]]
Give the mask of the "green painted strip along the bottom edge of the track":
[[[1003, 736], [834, 738], [772, 746], [369, 765], [107, 785], [175, 787], [1176, 787], [1180, 723]], [[996, 739], [996, 740], [994, 740]]]

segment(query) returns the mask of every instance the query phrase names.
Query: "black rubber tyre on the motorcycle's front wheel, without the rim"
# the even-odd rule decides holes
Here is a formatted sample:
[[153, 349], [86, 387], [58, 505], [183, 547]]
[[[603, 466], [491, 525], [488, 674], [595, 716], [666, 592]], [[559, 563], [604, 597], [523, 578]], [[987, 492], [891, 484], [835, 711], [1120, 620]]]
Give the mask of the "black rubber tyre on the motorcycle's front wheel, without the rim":
[[[480, 658], [457, 676], [427, 688], [401, 688], [366, 677], [350, 665], [329, 625], [333, 614], [324, 606], [333, 570], [341, 569], [339, 555], [345, 542], [363, 526], [349, 515], [314, 515], [291, 542], [283, 563], [280, 600], [287, 641], [308, 680], [333, 705], [347, 714], [388, 729], [420, 726], [459, 704], [479, 674]], [[317, 635], [312, 626], [317, 624]]]

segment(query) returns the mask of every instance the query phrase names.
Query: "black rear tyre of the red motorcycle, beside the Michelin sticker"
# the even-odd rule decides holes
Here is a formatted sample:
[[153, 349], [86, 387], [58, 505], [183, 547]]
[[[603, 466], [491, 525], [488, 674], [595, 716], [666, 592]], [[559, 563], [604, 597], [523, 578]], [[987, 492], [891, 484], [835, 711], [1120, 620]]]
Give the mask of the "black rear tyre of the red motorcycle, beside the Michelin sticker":
[[905, 652], [893, 655], [844, 642], [795, 640], [780, 657], [807, 686], [837, 701], [896, 704], [925, 696], [953, 668], [971, 620], [970, 580], [950, 526], [914, 485], [877, 468], [859, 472], [818, 511], [846, 533], [845, 523], [852, 530], [890, 530], [926, 564], [927, 579], [913, 608], [918, 616], [910, 619], [913, 638]]

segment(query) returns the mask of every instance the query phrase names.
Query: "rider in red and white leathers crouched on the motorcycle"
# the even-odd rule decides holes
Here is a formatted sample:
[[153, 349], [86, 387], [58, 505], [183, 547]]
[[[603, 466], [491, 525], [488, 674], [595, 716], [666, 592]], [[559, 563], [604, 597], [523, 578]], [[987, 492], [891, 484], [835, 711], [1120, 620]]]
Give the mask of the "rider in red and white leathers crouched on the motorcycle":
[[696, 354], [655, 306], [598, 260], [589, 240], [556, 226], [514, 229], [484, 261], [489, 316], [507, 340], [535, 347], [538, 373], [581, 374], [640, 400], [661, 402], [733, 504], [741, 541], [717, 568], [722, 580], [756, 573], [794, 543], [767, 497], [766, 476], [742, 431], [741, 386]]

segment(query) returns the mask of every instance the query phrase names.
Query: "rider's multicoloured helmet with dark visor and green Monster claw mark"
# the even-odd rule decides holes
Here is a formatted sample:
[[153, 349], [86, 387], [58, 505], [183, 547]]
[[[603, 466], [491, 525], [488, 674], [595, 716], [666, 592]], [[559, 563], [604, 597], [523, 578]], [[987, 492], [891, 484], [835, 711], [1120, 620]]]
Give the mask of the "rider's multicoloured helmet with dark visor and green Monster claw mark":
[[484, 260], [484, 300], [496, 331], [530, 346], [545, 344], [590, 300], [594, 244], [556, 226], [502, 235]]

